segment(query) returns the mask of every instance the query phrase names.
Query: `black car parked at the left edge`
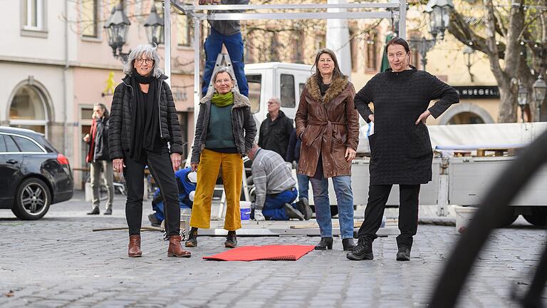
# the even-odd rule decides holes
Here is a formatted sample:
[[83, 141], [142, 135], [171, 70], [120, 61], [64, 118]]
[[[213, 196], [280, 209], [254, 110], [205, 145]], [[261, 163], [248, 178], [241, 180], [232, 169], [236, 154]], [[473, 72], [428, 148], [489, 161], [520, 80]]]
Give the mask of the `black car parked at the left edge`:
[[65, 155], [41, 133], [0, 126], [0, 209], [38, 220], [49, 205], [71, 199], [74, 180]]

